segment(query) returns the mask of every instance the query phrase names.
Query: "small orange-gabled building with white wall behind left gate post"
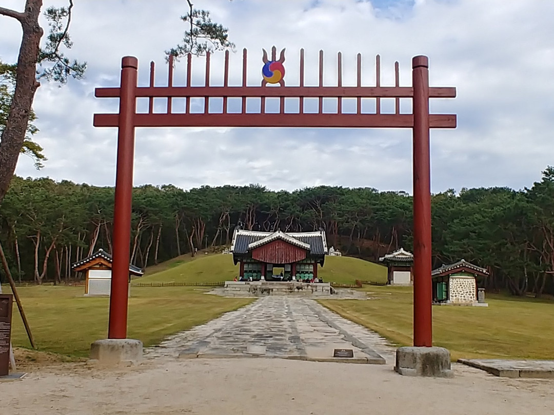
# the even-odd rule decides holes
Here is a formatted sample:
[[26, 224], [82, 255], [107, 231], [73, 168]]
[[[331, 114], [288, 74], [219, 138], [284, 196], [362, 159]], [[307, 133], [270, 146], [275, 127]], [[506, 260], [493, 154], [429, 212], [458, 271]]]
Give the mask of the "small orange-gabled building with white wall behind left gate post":
[[[79, 262], [71, 265], [76, 272], [85, 273], [85, 295], [110, 295], [111, 292], [111, 255], [99, 249]], [[140, 277], [144, 274], [139, 267], [129, 265], [129, 280], [131, 275]]]

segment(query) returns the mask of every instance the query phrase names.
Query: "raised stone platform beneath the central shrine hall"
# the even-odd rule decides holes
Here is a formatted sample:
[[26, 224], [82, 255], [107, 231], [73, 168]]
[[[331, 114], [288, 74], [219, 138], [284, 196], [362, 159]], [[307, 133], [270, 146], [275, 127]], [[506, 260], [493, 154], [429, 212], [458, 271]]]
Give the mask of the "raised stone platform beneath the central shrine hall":
[[329, 282], [225, 281], [225, 286], [217, 293], [228, 297], [261, 297], [266, 295], [327, 297], [333, 291]]

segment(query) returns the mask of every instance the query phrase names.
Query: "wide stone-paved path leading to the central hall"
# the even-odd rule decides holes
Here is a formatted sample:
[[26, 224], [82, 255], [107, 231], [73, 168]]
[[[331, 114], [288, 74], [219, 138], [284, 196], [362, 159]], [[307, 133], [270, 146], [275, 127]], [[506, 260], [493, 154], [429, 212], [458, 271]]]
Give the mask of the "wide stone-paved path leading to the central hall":
[[[333, 358], [335, 348], [354, 358]], [[314, 300], [268, 296], [148, 348], [148, 358], [280, 357], [315, 361], [392, 363], [394, 348], [377, 333]]]

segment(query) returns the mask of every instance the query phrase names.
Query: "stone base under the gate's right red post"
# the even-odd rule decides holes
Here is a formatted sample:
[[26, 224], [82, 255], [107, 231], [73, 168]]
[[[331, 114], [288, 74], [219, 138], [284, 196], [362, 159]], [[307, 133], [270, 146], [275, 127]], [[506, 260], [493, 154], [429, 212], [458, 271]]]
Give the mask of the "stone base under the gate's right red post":
[[394, 371], [404, 376], [454, 377], [444, 347], [399, 347]]

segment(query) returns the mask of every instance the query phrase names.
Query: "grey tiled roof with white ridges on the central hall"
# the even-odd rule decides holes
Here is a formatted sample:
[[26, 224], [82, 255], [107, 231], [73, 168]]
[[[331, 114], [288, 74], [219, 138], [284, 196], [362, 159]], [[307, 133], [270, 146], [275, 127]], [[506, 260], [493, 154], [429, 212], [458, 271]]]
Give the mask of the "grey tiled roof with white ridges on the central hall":
[[317, 232], [259, 232], [248, 230], [235, 230], [230, 252], [233, 254], [246, 254], [255, 247], [264, 245], [270, 241], [281, 239], [290, 244], [309, 249], [312, 255], [326, 255], [327, 241], [324, 231]]

